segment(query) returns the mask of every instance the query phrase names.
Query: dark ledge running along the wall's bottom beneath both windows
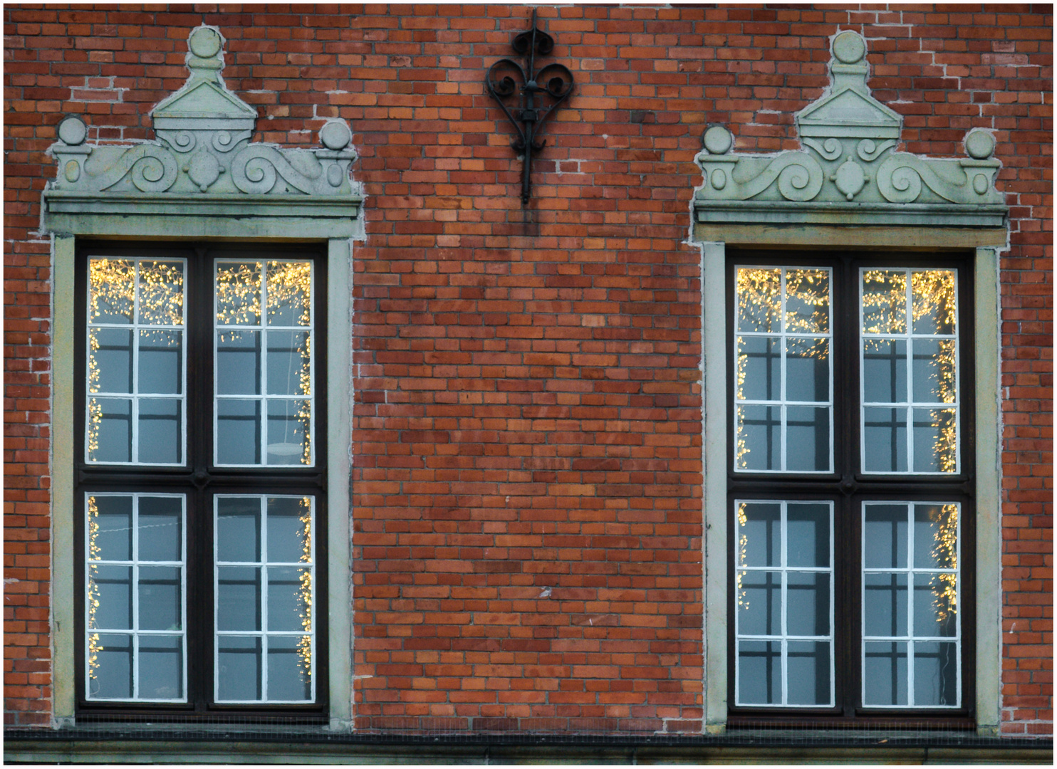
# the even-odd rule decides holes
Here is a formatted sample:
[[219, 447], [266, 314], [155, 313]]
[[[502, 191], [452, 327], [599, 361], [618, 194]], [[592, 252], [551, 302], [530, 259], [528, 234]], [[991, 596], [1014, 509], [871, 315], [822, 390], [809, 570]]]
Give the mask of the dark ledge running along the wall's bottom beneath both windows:
[[[331, 763], [396, 759], [614, 763], [765, 757], [860, 762], [1052, 764], [1052, 737], [996, 737], [953, 730], [737, 729], [725, 734], [572, 732], [349, 732], [284, 724], [88, 724], [7, 728], [5, 763]], [[768, 761], [769, 763], [769, 761]]]

